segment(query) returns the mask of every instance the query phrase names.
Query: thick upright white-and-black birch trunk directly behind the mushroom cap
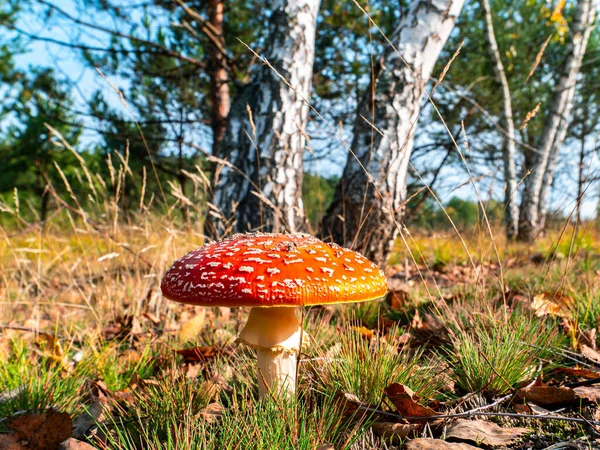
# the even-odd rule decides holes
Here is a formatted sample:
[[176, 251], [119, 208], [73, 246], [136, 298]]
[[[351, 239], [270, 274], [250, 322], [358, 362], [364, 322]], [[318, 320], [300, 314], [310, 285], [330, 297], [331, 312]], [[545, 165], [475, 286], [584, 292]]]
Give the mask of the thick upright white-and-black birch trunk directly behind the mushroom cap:
[[[319, 0], [276, 3], [269, 21], [267, 64], [236, 96], [217, 168], [211, 215], [216, 235], [303, 228], [302, 153], [308, 116]], [[282, 80], [275, 69], [286, 81]], [[290, 87], [291, 86], [291, 87]], [[251, 115], [251, 116], [250, 116]]]

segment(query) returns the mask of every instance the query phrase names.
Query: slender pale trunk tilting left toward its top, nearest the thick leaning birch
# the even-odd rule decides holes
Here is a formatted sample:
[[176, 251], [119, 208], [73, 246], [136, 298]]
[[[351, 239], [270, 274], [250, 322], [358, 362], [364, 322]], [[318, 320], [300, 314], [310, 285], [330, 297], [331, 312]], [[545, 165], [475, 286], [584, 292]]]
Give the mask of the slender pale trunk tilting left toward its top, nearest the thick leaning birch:
[[494, 34], [494, 24], [492, 21], [492, 8], [489, 0], [480, 0], [481, 10], [485, 19], [486, 38], [488, 41], [488, 50], [492, 59], [492, 68], [496, 82], [502, 90], [502, 122], [504, 129], [503, 136], [503, 157], [504, 157], [504, 211], [506, 223], [506, 237], [514, 239], [519, 231], [519, 205], [517, 204], [517, 167], [515, 162], [515, 124], [513, 121], [512, 102], [510, 99], [510, 88], [508, 79], [500, 57], [500, 50]]

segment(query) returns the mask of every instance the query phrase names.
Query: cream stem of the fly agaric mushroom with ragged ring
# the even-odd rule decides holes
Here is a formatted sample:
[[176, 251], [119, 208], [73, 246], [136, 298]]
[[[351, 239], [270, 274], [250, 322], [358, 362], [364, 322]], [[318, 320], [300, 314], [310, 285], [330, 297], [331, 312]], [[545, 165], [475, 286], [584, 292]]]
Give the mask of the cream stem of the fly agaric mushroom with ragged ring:
[[238, 342], [254, 347], [258, 359], [258, 394], [269, 390], [292, 397], [296, 391], [297, 352], [302, 330], [295, 308], [252, 308]]

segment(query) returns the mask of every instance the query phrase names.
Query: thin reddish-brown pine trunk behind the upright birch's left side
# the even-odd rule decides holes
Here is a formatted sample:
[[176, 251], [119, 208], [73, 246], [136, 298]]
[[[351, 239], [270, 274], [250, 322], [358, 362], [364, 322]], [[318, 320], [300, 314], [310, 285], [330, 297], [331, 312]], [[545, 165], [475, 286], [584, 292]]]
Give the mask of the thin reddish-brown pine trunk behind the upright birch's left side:
[[[208, 21], [212, 30], [218, 34], [218, 38], [225, 48], [223, 37], [223, 1], [209, 0]], [[225, 136], [227, 115], [230, 108], [229, 84], [227, 70], [225, 69], [225, 56], [214, 45], [208, 50], [209, 73], [210, 73], [210, 101], [211, 101], [211, 128], [213, 132], [212, 154], [219, 156], [221, 153], [221, 142]]]

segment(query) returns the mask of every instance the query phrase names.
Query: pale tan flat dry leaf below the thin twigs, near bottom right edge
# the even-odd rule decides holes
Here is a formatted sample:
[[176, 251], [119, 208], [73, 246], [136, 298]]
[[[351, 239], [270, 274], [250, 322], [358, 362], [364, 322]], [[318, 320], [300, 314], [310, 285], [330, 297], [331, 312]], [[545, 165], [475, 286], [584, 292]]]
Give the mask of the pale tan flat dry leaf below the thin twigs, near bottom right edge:
[[511, 445], [522, 435], [529, 433], [527, 428], [502, 428], [493, 422], [485, 420], [459, 419], [448, 428], [447, 437], [461, 441], [483, 444], [486, 447], [501, 447]]

